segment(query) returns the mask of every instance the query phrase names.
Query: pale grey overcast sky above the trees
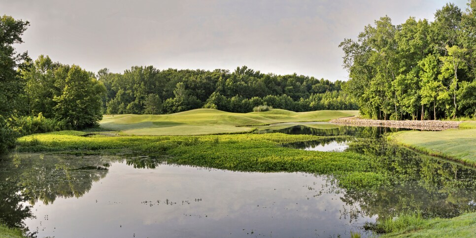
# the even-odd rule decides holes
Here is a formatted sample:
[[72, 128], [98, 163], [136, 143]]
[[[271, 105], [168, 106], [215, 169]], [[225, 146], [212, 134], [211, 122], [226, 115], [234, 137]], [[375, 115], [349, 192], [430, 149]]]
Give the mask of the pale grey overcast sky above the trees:
[[[346, 80], [344, 38], [388, 15], [433, 21], [445, 0], [0, 0], [0, 14], [28, 20], [31, 58], [90, 71], [131, 66], [223, 68]], [[467, 0], [452, 0], [466, 9]]]

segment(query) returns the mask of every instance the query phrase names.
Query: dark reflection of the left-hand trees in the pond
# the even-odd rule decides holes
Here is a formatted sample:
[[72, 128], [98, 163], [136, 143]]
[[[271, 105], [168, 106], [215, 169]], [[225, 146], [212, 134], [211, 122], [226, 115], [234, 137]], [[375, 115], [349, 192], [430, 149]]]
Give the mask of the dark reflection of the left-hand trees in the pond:
[[104, 178], [111, 162], [126, 160], [135, 168], [155, 168], [148, 157], [102, 157], [16, 154], [0, 160], [0, 219], [9, 226], [22, 226], [32, 217], [37, 201], [52, 204], [57, 198], [79, 198], [93, 182]]

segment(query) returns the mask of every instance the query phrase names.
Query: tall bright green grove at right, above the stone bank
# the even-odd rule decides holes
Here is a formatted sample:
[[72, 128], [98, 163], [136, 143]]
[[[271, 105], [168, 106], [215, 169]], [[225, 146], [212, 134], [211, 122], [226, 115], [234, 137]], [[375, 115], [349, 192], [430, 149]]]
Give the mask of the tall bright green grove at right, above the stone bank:
[[374, 119], [476, 117], [476, 0], [446, 4], [433, 22], [385, 16], [340, 43], [344, 92]]

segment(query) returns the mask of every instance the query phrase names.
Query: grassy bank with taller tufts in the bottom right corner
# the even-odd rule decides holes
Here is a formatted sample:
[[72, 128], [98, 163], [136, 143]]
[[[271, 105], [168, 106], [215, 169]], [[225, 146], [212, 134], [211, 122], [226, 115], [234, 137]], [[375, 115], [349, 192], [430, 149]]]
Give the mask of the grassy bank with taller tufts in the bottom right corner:
[[417, 213], [402, 214], [379, 223], [374, 229], [387, 233], [382, 237], [473, 237], [476, 234], [476, 213], [451, 219], [423, 219]]

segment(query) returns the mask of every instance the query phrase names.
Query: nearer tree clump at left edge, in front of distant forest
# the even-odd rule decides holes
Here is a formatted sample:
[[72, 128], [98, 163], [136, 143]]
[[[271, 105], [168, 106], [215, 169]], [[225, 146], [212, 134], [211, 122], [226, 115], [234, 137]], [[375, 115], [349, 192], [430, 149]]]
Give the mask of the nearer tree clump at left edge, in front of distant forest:
[[102, 119], [104, 85], [94, 73], [76, 65], [32, 61], [17, 53], [28, 21], [0, 18], [0, 153], [17, 136], [98, 125]]

